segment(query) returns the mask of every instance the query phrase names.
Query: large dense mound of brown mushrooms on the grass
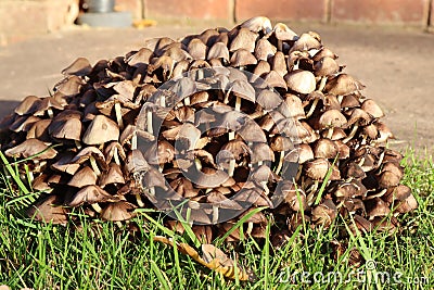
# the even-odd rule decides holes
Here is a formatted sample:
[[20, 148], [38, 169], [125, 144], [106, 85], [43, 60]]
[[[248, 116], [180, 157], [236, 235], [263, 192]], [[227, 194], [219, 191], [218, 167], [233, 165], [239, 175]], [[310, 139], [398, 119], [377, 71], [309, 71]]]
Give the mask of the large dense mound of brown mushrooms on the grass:
[[[207, 241], [258, 206], [268, 210], [245, 218], [254, 238], [265, 237], [267, 215], [276, 239], [295, 230], [302, 211], [312, 225], [341, 214], [354, 230], [388, 231], [418, 204], [400, 185], [403, 156], [385, 147], [383, 111], [336, 59], [317, 33], [266, 17], [150, 39], [93, 66], [79, 58], [52, 96], [29, 96], [3, 118], [1, 150], [26, 159], [23, 179], [44, 192], [28, 210], [39, 220], [66, 223], [80, 206], [120, 222], [183, 200], [202, 209], [193, 228]], [[182, 99], [161, 89], [170, 80]]]

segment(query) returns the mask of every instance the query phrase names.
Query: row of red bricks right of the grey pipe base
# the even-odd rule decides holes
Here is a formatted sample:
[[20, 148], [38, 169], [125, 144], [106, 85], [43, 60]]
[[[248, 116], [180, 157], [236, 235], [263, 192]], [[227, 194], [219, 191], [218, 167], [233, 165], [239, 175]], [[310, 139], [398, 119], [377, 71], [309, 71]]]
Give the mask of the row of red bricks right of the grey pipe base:
[[275, 21], [408, 25], [424, 29], [434, 26], [434, 0], [117, 0], [117, 3], [133, 1], [140, 2], [137, 9], [141, 9], [141, 15], [157, 20], [240, 22], [264, 15]]

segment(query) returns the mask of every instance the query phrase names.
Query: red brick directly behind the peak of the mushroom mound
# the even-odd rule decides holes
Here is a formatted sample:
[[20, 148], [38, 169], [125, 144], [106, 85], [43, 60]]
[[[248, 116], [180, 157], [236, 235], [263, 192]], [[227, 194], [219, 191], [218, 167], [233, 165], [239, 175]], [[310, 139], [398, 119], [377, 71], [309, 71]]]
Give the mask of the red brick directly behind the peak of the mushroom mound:
[[267, 16], [280, 21], [326, 21], [327, 0], [235, 0], [235, 18]]

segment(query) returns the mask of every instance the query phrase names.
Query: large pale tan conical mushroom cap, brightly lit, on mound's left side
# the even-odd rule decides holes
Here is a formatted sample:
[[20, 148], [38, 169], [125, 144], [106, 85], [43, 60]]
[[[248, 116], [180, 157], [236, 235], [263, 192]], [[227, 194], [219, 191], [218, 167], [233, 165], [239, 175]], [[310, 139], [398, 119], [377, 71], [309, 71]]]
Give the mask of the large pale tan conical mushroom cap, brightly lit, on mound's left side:
[[97, 115], [82, 136], [86, 144], [102, 144], [119, 139], [119, 127], [104, 115]]

